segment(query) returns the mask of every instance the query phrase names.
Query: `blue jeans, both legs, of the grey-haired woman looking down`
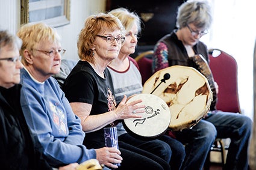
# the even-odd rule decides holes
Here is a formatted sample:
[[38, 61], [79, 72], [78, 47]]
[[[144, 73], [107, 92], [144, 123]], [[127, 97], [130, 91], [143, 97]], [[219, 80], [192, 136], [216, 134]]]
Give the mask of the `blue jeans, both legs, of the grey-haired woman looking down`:
[[248, 146], [252, 120], [242, 114], [217, 111], [192, 129], [176, 132], [176, 139], [186, 144], [182, 169], [202, 169], [216, 138], [230, 138], [225, 169], [248, 169]]

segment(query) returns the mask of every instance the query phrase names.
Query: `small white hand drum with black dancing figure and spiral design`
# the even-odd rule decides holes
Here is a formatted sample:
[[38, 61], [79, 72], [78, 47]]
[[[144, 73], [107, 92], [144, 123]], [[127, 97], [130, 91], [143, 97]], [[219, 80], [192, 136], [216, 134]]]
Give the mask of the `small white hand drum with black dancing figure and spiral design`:
[[170, 124], [170, 111], [166, 103], [152, 94], [138, 94], [131, 97], [129, 102], [142, 99], [145, 105], [145, 112], [142, 118], [128, 118], [123, 120], [125, 130], [136, 138], [152, 139], [162, 135]]

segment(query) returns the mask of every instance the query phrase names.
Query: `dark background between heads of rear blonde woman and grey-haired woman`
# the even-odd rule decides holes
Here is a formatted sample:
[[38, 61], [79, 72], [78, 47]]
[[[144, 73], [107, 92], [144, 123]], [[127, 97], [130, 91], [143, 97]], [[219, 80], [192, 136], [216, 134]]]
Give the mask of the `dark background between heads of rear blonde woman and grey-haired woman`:
[[[157, 41], [175, 28], [178, 7], [184, 1], [185, 0], [107, 0], [106, 11], [123, 7], [137, 13], [142, 19], [142, 32], [138, 46], [136, 52], [131, 55], [135, 57], [140, 52], [153, 50]], [[151, 14], [152, 18], [143, 20], [143, 14]]]

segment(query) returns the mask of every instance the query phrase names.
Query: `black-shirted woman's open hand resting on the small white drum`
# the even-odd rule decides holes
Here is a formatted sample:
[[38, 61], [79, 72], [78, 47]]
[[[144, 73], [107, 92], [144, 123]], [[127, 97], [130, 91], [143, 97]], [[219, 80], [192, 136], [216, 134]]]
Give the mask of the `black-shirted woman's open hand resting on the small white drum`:
[[[124, 95], [122, 101], [119, 103], [115, 112], [117, 114], [118, 120], [123, 120], [126, 118], [142, 118], [142, 116], [137, 114], [144, 113], [145, 105], [139, 105], [142, 103], [142, 100], [135, 100], [133, 102], [126, 102], [127, 97]], [[134, 113], [135, 112], [135, 113]]]

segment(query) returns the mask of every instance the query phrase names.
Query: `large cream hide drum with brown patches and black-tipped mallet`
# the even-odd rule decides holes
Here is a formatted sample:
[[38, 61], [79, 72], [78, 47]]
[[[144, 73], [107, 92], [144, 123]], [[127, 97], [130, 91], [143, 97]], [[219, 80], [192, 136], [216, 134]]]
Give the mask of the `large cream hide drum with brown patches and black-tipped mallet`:
[[166, 102], [173, 131], [195, 126], [213, 99], [207, 78], [193, 67], [180, 65], [157, 71], [145, 82], [142, 93], [152, 93]]

